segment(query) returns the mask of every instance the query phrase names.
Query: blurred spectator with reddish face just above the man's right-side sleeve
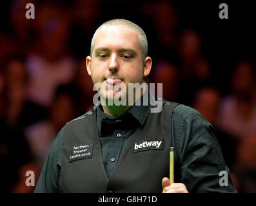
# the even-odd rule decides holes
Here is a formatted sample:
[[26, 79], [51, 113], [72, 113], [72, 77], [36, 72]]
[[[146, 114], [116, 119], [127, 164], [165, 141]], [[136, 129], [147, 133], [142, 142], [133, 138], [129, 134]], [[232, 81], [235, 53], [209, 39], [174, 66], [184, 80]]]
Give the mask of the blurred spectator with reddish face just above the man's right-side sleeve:
[[224, 160], [232, 170], [232, 167], [235, 164], [235, 148], [237, 146], [237, 141], [233, 136], [224, 132], [219, 127], [218, 114], [220, 102], [221, 95], [219, 94], [219, 91], [215, 88], [206, 87], [197, 91], [193, 101], [193, 108], [197, 109], [197, 111], [199, 111], [215, 128]]

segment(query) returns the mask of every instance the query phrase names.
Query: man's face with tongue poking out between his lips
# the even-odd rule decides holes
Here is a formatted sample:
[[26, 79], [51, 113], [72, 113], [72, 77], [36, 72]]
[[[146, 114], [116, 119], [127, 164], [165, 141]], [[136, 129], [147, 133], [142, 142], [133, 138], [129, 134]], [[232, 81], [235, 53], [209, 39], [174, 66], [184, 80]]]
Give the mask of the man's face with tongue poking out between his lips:
[[87, 57], [86, 66], [94, 84], [103, 85], [100, 95], [106, 99], [119, 92], [109, 86], [124, 84], [127, 95], [128, 83], [142, 84], [143, 77], [149, 73], [147, 68], [144, 71], [138, 33], [125, 26], [106, 26], [99, 30], [92, 57]]

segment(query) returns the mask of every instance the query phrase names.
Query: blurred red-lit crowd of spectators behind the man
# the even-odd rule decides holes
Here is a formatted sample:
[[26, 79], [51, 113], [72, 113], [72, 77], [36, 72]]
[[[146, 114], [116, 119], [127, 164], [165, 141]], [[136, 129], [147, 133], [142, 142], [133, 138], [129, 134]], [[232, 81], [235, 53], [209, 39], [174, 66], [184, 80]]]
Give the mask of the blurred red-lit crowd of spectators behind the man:
[[[126, 10], [117, 10], [117, 2], [6, 5], [0, 30], [1, 191], [33, 192], [25, 185], [26, 171], [34, 171], [36, 183], [58, 131], [94, 106], [85, 66], [90, 41], [101, 23], [121, 17], [148, 36], [153, 68], [146, 81], [162, 83], [163, 98], [197, 109], [215, 127], [237, 191], [256, 192], [254, 62], [233, 59], [223, 80], [204, 52], [201, 33], [182, 23], [179, 4], [125, 0]], [[26, 19], [27, 3], [35, 5], [35, 19]]]

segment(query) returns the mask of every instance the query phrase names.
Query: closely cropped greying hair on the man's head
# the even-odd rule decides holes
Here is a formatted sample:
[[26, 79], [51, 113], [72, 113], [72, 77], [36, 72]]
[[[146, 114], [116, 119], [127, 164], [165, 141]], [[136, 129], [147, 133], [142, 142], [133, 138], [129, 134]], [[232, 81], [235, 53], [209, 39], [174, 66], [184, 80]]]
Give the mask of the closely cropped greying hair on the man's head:
[[101, 26], [99, 26], [99, 28], [97, 28], [97, 30], [94, 33], [94, 36], [92, 37], [91, 51], [90, 51], [91, 56], [94, 51], [94, 44], [95, 44], [95, 40], [97, 37], [97, 33], [99, 32], [99, 30], [102, 30], [102, 29], [106, 28], [107, 26], [125, 26], [127, 28], [131, 28], [132, 30], [135, 30], [139, 35], [141, 57], [144, 62], [144, 59], [148, 56], [148, 41], [146, 39], [146, 34], [144, 33], [144, 31], [142, 30], [141, 27], [139, 27], [137, 24], [132, 23], [132, 21], [128, 21], [126, 19], [113, 19], [113, 20], [110, 20], [110, 21], [107, 21], [107, 22], [101, 24]]

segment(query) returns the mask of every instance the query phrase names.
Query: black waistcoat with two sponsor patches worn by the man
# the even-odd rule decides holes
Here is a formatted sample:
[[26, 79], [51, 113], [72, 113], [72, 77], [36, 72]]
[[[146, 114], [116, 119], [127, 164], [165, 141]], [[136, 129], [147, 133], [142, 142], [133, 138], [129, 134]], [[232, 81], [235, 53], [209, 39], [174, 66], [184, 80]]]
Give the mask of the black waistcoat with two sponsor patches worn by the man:
[[162, 192], [161, 180], [170, 172], [171, 118], [176, 105], [163, 102], [160, 113], [150, 113], [144, 127], [137, 127], [110, 179], [95, 108], [66, 124], [58, 192]]

